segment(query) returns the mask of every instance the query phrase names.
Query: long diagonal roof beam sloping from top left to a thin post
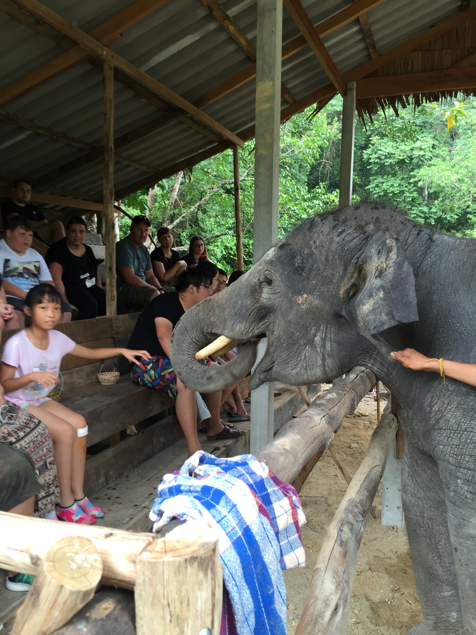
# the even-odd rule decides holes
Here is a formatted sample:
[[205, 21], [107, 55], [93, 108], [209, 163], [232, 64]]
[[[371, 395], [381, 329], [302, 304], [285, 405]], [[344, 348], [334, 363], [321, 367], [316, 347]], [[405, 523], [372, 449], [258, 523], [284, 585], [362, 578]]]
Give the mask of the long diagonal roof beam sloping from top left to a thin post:
[[234, 135], [234, 133], [230, 130], [227, 130], [227, 128], [218, 123], [218, 121], [215, 121], [215, 119], [210, 117], [208, 114], [202, 112], [202, 110], [190, 104], [190, 102], [187, 102], [186, 99], [180, 97], [180, 95], [177, 95], [174, 91], [166, 88], [164, 84], [161, 84], [150, 75], [147, 75], [147, 73], [143, 72], [143, 70], [136, 68], [133, 64], [131, 64], [131, 62], [128, 62], [128, 60], [116, 53], [113, 53], [109, 48], [103, 46], [103, 44], [99, 43], [81, 29], [75, 27], [54, 11], [48, 9], [48, 7], [44, 6], [44, 4], [37, 2], [37, 0], [12, 0], [12, 2], [17, 4], [17, 6], [20, 6], [20, 8], [25, 11], [31, 13], [31, 15], [34, 15], [36, 18], [41, 20], [41, 22], [50, 25], [63, 35], [70, 37], [84, 50], [91, 53], [93, 57], [98, 58], [103, 62], [110, 62], [110, 64], [124, 72], [127, 76], [131, 77], [131, 79], [134, 79], [139, 84], [142, 84], [142, 86], [145, 86], [145, 88], [148, 88], [159, 97], [164, 98], [167, 102], [169, 102], [169, 104], [184, 110], [190, 116], [198, 119], [201, 123], [205, 124], [207, 128], [217, 132], [221, 137], [224, 137], [237, 145], [243, 145], [239, 137]]

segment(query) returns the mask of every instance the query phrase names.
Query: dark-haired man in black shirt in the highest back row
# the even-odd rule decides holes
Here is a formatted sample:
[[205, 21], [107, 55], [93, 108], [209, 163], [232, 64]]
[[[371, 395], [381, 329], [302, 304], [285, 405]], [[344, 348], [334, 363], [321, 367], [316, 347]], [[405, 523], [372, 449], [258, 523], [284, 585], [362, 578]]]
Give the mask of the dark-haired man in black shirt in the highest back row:
[[24, 178], [18, 178], [11, 188], [11, 201], [1, 203], [3, 227], [13, 216], [21, 216], [32, 222], [34, 237], [46, 244], [55, 243], [65, 237], [65, 228], [60, 220], [49, 223], [43, 211], [30, 203], [31, 185]]

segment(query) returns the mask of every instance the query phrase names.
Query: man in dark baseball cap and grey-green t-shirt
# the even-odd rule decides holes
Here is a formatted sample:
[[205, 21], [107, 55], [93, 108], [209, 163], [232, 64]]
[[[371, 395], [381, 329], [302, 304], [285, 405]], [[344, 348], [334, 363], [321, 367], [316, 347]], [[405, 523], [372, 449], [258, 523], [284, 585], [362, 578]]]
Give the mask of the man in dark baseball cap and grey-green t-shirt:
[[150, 300], [164, 293], [144, 245], [149, 230], [149, 218], [135, 216], [131, 220], [129, 236], [116, 243], [117, 304], [128, 305], [137, 311], [142, 311]]

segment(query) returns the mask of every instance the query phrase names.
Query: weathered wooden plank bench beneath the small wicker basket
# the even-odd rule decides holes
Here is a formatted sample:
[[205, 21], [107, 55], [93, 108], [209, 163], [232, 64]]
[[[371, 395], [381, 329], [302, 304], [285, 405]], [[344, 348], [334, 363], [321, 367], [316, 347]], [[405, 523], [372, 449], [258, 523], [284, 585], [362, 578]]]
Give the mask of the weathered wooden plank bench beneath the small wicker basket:
[[[81, 320], [58, 324], [56, 330], [89, 348], [127, 347], [137, 317]], [[16, 332], [4, 331], [3, 342]], [[106, 370], [112, 370], [114, 364], [121, 377], [110, 386], [98, 381], [100, 362], [67, 355], [60, 369], [64, 382], [61, 403], [83, 415], [89, 427], [84, 477], [88, 493], [100, 490], [183, 436], [174, 422], [173, 399], [133, 384], [127, 359], [105, 361]]]

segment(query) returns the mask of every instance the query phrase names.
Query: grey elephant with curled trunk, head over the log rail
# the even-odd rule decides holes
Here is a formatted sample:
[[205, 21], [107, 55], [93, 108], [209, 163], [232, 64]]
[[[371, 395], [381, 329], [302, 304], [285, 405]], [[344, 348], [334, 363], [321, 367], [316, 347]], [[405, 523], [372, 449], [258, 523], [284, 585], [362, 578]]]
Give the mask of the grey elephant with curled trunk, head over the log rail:
[[246, 375], [255, 345], [241, 345], [232, 362], [213, 368], [195, 352], [218, 335], [265, 335], [251, 388], [272, 380], [330, 382], [359, 365], [395, 394], [423, 612], [412, 633], [476, 633], [476, 388], [408, 370], [390, 352], [408, 346], [474, 363], [475, 274], [475, 240], [430, 231], [387, 208], [354, 205], [300, 225], [232, 287], [187, 311], [171, 342], [178, 376], [200, 391]]

